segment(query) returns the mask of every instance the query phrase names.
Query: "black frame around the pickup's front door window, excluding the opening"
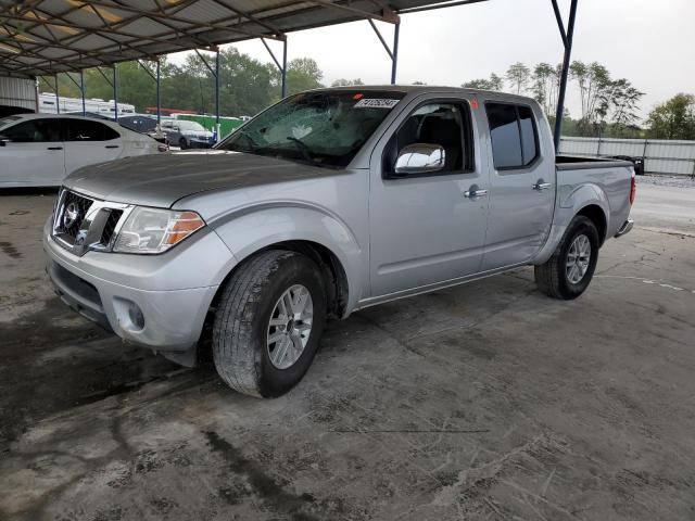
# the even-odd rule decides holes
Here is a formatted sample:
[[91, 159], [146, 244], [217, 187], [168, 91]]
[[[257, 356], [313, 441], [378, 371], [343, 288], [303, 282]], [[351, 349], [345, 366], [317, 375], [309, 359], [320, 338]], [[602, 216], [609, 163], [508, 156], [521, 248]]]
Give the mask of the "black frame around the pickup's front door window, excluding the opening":
[[[462, 164], [463, 168], [459, 168], [457, 170], [443, 170], [443, 171], [433, 171], [428, 174], [413, 174], [413, 175], [402, 176], [402, 177], [389, 176], [384, 169], [384, 157], [387, 155], [391, 141], [395, 138], [395, 136], [399, 134], [399, 131], [403, 128], [403, 126], [406, 124], [406, 122], [413, 114], [415, 114], [419, 109], [421, 109], [425, 105], [430, 105], [435, 103], [456, 105], [459, 107], [462, 113], [462, 126], [463, 126], [462, 132], [460, 132], [462, 151], [465, 153], [468, 150], [470, 150], [470, 155], [468, 156], [468, 160], [469, 160], [468, 167], [466, 167], [465, 164]], [[389, 137], [389, 140], [387, 141], [387, 145], [383, 148], [383, 151], [381, 152], [381, 178], [388, 179], [390, 181], [400, 181], [400, 180], [417, 179], [417, 178], [424, 178], [424, 177], [442, 177], [442, 176], [456, 176], [462, 174], [473, 174], [476, 171], [476, 147], [472, 143], [472, 139], [475, 136], [472, 125], [473, 123], [472, 123], [470, 100], [466, 98], [430, 98], [430, 99], [420, 101], [415, 106], [413, 106], [413, 109], [408, 110], [405, 118], [393, 130], [393, 132], [391, 134], [391, 137]], [[466, 145], [467, 143], [469, 144], [468, 147]]]

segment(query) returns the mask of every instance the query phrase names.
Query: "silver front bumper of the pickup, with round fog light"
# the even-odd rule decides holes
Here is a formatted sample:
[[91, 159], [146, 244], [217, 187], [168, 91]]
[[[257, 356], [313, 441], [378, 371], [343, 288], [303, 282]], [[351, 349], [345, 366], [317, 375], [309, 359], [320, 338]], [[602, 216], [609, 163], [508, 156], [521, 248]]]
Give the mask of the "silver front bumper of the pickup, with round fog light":
[[[89, 252], [79, 257], [60, 246], [48, 229], [43, 234], [47, 272], [64, 303], [128, 342], [165, 353], [195, 346], [233, 258], [215, 233], [195, 242], [195, 254], [181, 247], [156, 256]], [[211, 260], [191, 265], [191, 255]], [[217, 263], [219, 275], [206, 269], [211, 262]], [[181, 270], [198, 274], [197, 283], [189, 277], [188, 288], [167, 289]]]

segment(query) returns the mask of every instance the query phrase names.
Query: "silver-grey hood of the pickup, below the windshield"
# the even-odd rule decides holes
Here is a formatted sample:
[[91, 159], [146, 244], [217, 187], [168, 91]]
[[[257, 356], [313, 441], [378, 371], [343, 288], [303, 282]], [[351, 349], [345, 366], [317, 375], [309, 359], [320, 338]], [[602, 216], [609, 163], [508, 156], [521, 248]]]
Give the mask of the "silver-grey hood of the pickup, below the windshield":
[[65, 187], [97, 199], [169, 207], [187, 195], [315, 177], [338, 170], [223, 150], [142, 155], [74, 171]]

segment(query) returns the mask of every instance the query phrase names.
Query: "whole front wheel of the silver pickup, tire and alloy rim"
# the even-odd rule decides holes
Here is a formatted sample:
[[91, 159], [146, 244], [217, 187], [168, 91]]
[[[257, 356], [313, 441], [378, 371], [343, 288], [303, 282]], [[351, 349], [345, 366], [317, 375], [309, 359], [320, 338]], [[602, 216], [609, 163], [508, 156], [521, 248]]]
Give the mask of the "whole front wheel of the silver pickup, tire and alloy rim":
[[312, 364], [325, 321], [318, 266], [295, 252], [263, 252], [223, 290], [213, 326], [217, 372], [244, 394], [285, 394]]

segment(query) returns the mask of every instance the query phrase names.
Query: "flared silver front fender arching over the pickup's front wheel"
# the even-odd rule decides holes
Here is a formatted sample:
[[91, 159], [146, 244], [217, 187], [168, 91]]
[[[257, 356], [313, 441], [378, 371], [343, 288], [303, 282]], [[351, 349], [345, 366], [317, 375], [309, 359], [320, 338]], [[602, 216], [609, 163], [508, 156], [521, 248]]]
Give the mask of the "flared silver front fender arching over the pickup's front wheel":
[[348, 312], [366, 290], [364, 249], [346, 223], [320, 206], [303, 202], [265, 202], [208, 224], [239, 262], [286, 241], [312, 241], [330, 250], [348, 278]]

